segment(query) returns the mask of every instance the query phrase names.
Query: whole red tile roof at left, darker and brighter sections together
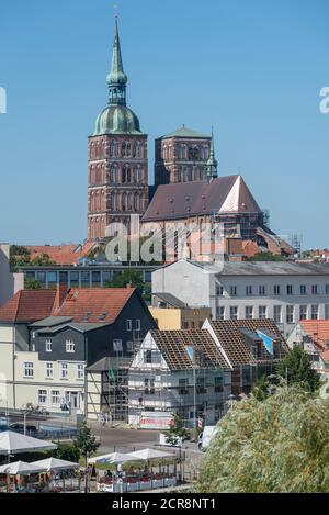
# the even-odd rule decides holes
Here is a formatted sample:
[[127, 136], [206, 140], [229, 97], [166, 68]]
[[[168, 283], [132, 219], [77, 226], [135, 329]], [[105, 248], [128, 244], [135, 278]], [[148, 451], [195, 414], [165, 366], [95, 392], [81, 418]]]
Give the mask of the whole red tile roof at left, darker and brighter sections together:
[[71, 316], [73, 322], [112, 324], [134, 292], [134, 288], [77, 288], [61, 296], [59, 306], [56, 290], [21, 290], [0, 309], [0, 322], [26, 323], [48, 316]]

